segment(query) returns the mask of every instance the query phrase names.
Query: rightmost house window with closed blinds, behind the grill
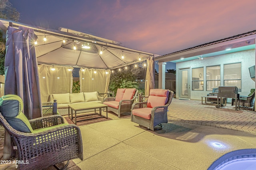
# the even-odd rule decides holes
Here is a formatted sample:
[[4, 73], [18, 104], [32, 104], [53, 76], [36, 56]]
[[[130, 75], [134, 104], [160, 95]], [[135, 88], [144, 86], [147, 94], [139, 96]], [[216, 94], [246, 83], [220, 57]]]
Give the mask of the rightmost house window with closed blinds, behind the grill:
[[224, 64], [224, 86], [236, 86], [241, 92], [241, 63]]

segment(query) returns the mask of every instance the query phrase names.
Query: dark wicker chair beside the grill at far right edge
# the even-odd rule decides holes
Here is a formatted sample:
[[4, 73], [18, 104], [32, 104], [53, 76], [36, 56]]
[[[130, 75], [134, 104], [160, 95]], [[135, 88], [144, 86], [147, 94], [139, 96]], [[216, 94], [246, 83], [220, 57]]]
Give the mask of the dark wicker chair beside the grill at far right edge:
[[[248, 96], [239, 96], [239, 105], [242, 107], [252, 107], [254, 105], [255, 89], [250, 90]], [[235, 105], [235, 99], [232, 99], [231, 105]]]

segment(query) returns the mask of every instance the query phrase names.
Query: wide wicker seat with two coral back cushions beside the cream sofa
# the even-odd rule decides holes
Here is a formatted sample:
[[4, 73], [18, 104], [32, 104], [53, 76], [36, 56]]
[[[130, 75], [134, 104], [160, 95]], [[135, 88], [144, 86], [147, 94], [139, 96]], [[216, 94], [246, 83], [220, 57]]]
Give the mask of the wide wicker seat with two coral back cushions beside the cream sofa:
[[118, 88], [115, 98], [106, 98], [103, 104], [108, 105], [108, 111], [113, 111], [118, 115], [131, 112], [132, 104], [138, 94], [135, 88]]

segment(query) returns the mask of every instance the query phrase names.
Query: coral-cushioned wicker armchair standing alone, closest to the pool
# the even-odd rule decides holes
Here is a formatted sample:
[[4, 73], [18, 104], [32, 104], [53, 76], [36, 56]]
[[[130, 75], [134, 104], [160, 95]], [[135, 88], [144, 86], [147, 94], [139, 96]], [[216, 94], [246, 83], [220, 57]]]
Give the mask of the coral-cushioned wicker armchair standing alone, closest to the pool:
[[[157, 96], [158, 94], [160, 94], [159, 91], [162, 94], [164, 93], [164, 95], [161, 94]], [[147, 102], [139, 102], [133, 104], [131, 111], [131, 121], [134, 123], [138, 123], [140, 126], [146, 127], [152, 131], [154, 131], [154, 127], [156, 125], [160, 125], [160, 127], [163, 127], [161, 123], [168, 123], [167, 110], [168, 106], [172, 102], [173, 95], [173, 91], [163, 89], [151, 89], [150, 96], [156, 97], [152, 98], [149, 96]], [[160, 100], [158, 100], [158, 97], [160, 97], [160, 100], [162, 100], [161, 98], [165, 97], [162, 106], [160, 106]], [[152, 102], [156, 102], [156, 104], [152, 104]]]

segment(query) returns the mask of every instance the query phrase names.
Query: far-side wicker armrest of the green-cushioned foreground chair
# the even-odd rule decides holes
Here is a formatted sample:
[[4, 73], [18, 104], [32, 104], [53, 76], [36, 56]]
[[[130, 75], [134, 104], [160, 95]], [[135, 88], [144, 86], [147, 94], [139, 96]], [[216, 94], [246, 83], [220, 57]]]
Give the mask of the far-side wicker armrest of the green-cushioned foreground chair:
[[53, 125], [60, 125], [64, 123], [64, 119], [61, 115], [50, 115], [45, 117], [39, 117], [36, 119], [30, 119], [29, 122], [32, 129], [40, 129]]

